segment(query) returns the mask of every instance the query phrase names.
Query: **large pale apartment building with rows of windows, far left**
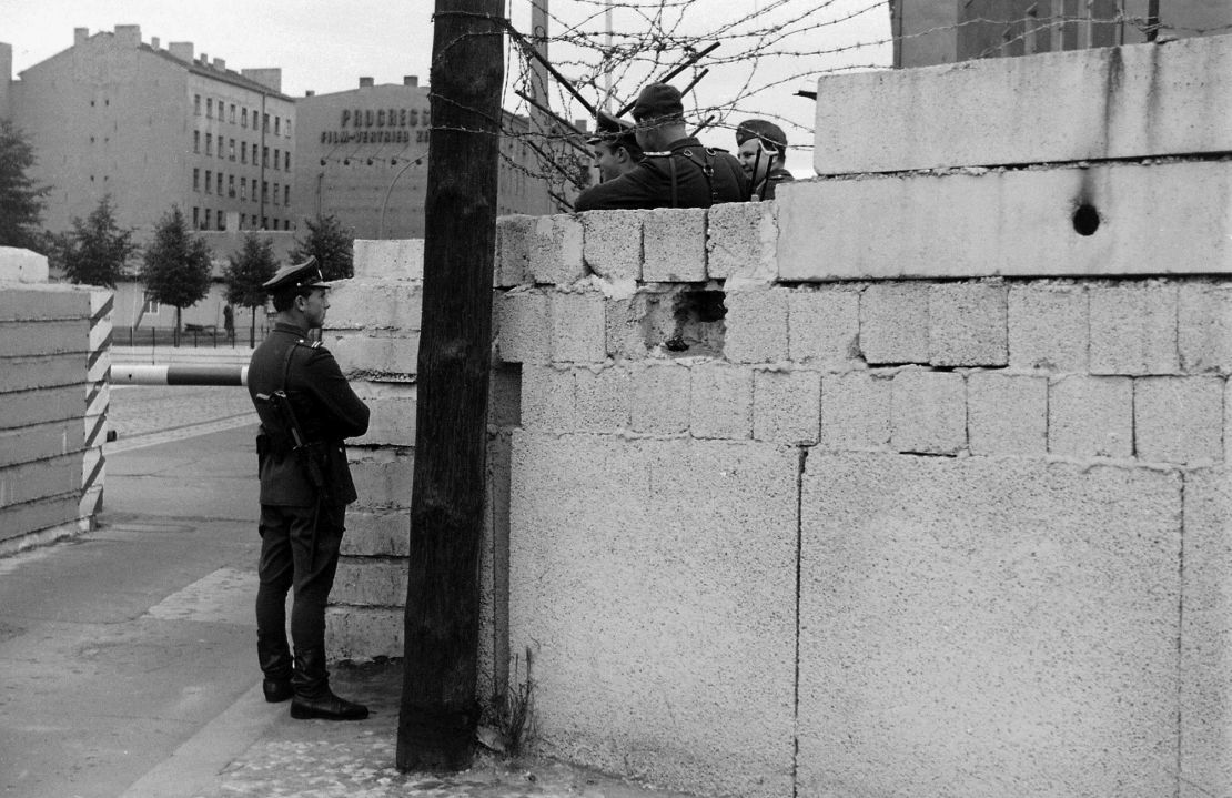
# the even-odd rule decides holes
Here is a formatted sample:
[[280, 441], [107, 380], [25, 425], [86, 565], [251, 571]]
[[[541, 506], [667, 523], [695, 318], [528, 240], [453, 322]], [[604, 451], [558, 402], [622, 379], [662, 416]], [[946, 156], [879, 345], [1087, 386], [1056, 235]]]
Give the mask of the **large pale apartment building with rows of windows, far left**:
[[31, 176], [52, 188], [51, 230], [108, 193], [143, 241], [174, 204], [201, 230], [296, 227], [296, 106], [280, 69], [237, 73], [124, 25], [76, 28], [71, 47], [0, 81], [38, 158]]

